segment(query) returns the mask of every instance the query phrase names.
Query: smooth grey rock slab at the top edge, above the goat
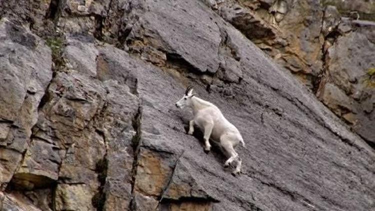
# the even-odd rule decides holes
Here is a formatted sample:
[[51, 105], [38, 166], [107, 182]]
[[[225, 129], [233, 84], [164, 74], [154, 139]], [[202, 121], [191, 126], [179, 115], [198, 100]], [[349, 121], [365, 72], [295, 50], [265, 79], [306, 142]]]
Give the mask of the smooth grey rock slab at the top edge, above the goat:
[[[146, 0], [139, 4], [139, 11], [134, 9], [133, 12], [148, 12], [142, 13], [141, 18], [133, 23], [127, 42], [142, 37], [144, 44], [165, 51], [167, 60], [187, 62], [201, 72], [216, 72], [220, 33], [217, 25], [207, 24], [211, 21], [211, 15], [201, 7], [200, 2]], [[191, 13], [186, 13], [187, 10]], [[186, 18], [181, 13], [200, 18]]]

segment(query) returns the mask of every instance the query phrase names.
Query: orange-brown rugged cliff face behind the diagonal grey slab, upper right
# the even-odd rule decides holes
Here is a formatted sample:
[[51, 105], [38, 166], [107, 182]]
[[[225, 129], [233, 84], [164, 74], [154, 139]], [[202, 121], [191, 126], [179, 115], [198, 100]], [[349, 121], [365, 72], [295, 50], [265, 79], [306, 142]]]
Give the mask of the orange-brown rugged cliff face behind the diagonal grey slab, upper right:
[[[369, 144], [375, 142], [371, 85], [375, 23], [341, 18], [339, 13], [350, 16], [351, 10], [357, 10], [371, 14], [372, 1], [206, 2], [274, 61], [290, 70]], [[339, 11], [332, 5], [338, 6]], [[327, 80], [334, 81], [334, 87]]]

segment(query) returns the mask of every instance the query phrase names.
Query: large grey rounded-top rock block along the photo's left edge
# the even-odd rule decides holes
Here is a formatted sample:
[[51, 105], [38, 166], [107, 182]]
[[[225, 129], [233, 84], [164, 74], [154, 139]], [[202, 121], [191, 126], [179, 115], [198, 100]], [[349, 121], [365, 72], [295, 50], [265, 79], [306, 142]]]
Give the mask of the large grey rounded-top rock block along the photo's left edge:
[[[0, 20], [0, 189], [26, 149], [37, 107], [52, 77], [50, 49], [29, 30]], [[40, 60], [40, 58], [44, 58]]]

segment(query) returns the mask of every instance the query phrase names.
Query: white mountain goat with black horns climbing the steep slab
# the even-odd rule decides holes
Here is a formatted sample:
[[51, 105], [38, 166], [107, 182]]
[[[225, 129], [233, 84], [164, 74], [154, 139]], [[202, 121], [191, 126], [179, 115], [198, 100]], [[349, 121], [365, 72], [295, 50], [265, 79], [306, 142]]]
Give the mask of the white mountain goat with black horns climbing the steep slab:
[[194, 124], [196, 124], [204, 134], [204, 150], [210, 150], [209, 138], [211, 138], [229, 156], [224, 163], [224, 167], [229, 166], [235, 160], [237, 165], [232, 173], [234, 175], [239, 173], [241, 171], [242, 160], [238, 157], [237, 152], [234, 151], [234, 147], [239, 142], [245, 146], [241, 134], [214, 104], [194, 96], [192, 92], [193, 89], [191, 86], [187, 87], [183, 97], [176, 102], [176, 106], [179, 108], [188, 106], [192, 109], [194, 118], [189, 121], [189, 131], [187, 134], [191, 135], [193, 133]]

